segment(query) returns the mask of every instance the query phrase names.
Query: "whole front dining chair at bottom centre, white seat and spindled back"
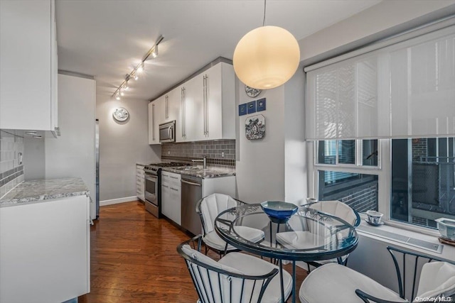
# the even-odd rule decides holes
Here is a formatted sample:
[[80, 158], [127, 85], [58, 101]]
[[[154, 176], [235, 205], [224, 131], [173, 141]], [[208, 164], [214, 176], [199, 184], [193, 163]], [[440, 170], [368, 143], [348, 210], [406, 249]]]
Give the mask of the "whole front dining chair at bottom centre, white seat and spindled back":
[[[200, 235], [196, 236], [177, 247], [188, 266], [198, 302], [282, 302], [277, 265], [237, 252], [228, 253], [217, 262], [200, 253], [200, 239]], [[292, 290], [292, 277], [286, 270], [282, 277], [287, 299]]]

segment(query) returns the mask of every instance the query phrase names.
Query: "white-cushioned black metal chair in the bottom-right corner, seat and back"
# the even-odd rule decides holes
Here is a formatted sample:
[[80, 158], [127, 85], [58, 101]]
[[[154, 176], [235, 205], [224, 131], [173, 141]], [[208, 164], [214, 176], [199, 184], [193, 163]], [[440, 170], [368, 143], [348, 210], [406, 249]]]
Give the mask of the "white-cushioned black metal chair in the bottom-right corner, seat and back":
[[[437, 302], [429, 301], [429, 298], [441, 296], [455, 299], [454, 263], [398, 248], [387, 247], [387, 250], [395, 265], [398, 292], [360, 272], [331, 263], [316, 268], [305, 278], [299, 290], [300, 301], [393, 303]], [[454, 302], [453, 299], [446, 302]]]

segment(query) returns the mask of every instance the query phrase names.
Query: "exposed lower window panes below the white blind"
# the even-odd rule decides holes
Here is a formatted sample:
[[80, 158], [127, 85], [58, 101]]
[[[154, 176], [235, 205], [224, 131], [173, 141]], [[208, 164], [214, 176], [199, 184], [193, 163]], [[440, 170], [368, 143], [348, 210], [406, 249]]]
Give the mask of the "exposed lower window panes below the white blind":
[[[455, 219], [455, 138], [382, 141], [386, 143], [382, 153], [391, 157], [386, 167], [378, 167], [378, 140], [355, 141], [360, 144], [354, 145], [319, 141], [319, 159], [331, 160], [314, 163], [317, 198], [339, 200], [359, 212], [386, 213], [388, 208], [391, 220], [429, 228], [437, 227], [435, 219]], [[361, 155], [355, 162], [362, 165], [346, 165], [352, 162], [352, 154]], [[381, 189], [380, 180], [390, 187]], [[380, 200], [381, 191], [385, 199]]]

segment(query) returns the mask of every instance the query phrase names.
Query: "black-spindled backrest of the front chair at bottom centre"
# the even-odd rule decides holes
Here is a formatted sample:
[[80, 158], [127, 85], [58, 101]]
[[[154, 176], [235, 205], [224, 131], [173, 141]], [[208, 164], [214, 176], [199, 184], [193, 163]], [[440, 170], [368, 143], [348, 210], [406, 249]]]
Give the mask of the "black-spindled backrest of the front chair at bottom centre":
[[200, 235], [181, 243], [177, 251], [186, 261], [200, 302], [261, 302], [267, 285], [278, 270], [260, 276], [245, 275], [240, 270], [216, 262], [194, 249], [195, 246], [192, 248], [189, 245], [198, 239]]

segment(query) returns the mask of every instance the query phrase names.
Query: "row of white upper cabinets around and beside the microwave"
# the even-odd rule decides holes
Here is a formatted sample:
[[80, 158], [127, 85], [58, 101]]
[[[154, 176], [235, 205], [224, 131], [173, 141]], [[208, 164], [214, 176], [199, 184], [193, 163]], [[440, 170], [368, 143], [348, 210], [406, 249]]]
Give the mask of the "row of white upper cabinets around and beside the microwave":
[[228, 63], [210, 67], [156, 101], [162, 104], [157, 119], [176, 121], [176, 142], [235, 139], [235, 74]]

